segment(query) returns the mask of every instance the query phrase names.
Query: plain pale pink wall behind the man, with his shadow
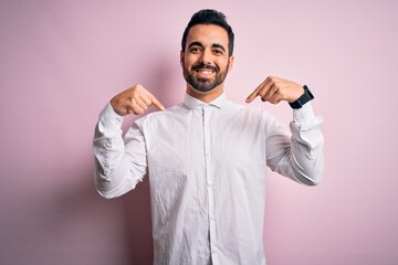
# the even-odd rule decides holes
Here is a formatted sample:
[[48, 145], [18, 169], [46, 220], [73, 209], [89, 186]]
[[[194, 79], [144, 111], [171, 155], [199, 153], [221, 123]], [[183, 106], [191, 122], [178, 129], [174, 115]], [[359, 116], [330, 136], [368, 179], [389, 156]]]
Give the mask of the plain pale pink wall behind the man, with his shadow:
[[[270, 265], [398, 264], [398, 1], [0, 1], [0, 264], [150, 264], [148, 183], [102, 199], [92, 136], [116, 93], [185, 92], [191, 14], [235, 32], [230, 99], [268, 75], [306, 83], [325, 135], [324, 182], [270, 174]], [[291, 110], [254, 103], [284, 123]], [[133, 118], [128, 118], [126, 124]]]

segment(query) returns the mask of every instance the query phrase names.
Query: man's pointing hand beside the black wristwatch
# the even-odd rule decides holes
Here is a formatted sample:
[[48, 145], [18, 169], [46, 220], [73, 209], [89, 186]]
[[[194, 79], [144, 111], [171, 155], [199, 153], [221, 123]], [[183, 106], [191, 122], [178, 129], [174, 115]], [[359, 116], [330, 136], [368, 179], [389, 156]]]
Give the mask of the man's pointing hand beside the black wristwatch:
[[261, 83], [258, 88], [247, 98], [247, 103], [251, 103], [256, 96], [263, 102], [277, 104], [281, 100], [289, 103], [295, 102], [304, 94], [303, 86], [287, 80], [275, 76], [269, 76]]

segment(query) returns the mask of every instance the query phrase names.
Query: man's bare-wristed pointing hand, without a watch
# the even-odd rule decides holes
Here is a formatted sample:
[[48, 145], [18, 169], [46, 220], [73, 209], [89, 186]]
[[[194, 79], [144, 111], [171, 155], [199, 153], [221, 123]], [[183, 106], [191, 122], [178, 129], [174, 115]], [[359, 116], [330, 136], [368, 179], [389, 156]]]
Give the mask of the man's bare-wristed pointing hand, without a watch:
[[128, 114], [142, 115], [150, 105], [159, 110], [165, 107], [161, 103], [142, 85], [135, 85], [111, 99], [111, 105], [121, 116]]

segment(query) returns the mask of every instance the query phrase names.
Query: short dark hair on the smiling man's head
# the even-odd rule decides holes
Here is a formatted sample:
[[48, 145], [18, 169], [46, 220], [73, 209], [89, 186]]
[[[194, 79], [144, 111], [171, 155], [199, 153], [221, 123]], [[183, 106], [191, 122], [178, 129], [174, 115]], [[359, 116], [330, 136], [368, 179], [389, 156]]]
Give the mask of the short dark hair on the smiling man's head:
[[229, 56], [233, 53], [233, 39], [234, 34], [232, 31], [232, 28], [227, 22], [227, 17], [213, 9], [203, 9], [198, 12], [196, 12], [191, 20], [189, 21], [187, 28], [184, 31], [182, 40], [181, 40], [181, 49], [185, 51], [185, 46], [187, 43], [187, 36], [190, 28], [192, 28], [196, 24], [214, 24], [219, 25], [222, 29], [224, 29], [228, 33], [228, 50], [229, 50]]

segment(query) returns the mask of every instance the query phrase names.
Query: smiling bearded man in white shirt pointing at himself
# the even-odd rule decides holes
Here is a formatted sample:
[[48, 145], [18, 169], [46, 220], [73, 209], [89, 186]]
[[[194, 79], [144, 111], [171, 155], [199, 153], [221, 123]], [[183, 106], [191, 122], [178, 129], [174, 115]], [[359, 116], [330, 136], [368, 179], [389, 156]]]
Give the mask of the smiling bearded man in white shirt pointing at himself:
[[[116, 95], [94, 137], [96, 187], [105, 198], [149, 178], [155, 264], [265, 264], [266, 166], [313, 186], [323, 172], [323, 136], [306, 86], [268, 77], [247, 98], [289, 102], [291, 132], [266, 112], [229, 102], [233, 32], [214, 10], [193, 14], [182, 35], [184, 103], [165, 109], [142, 85]], [[122, 138], [123, 116], [139, 118]], [[292, 135], [292, 137], [291, 137]]]

